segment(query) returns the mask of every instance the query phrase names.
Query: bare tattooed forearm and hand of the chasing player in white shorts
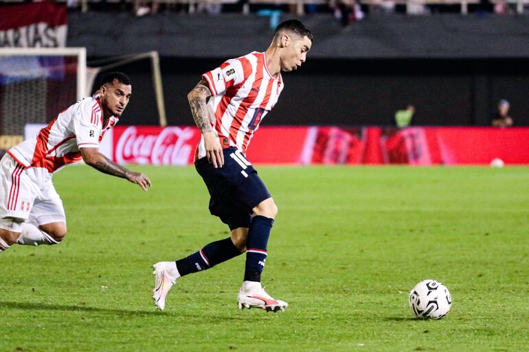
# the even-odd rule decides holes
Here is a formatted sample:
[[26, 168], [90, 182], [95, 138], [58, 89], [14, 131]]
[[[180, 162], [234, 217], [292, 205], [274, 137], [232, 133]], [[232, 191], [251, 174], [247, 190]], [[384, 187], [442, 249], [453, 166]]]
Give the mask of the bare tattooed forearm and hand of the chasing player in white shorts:
[[139, 187], [142, 187], [144, 191], [146, 191], [151, 185], [147, 176], [141, 172], [133, 172], [122, 165], [114, 163], [101, 154], [98, 148], [81, 148], [81, 156], [82, 160], [94, 169], [97, 169], [104, 174], [126, 178], [131, 183], [135, 183], [136, 185], [139, 185]]

